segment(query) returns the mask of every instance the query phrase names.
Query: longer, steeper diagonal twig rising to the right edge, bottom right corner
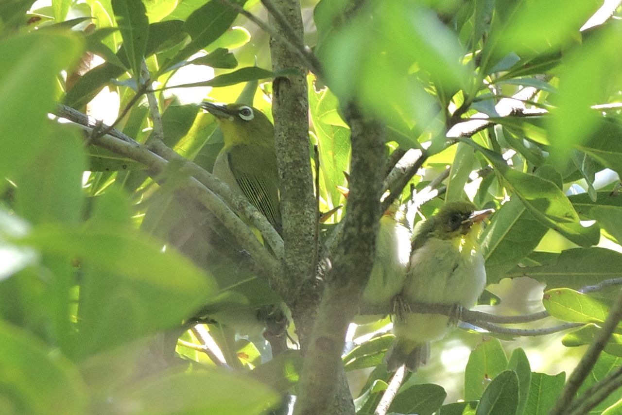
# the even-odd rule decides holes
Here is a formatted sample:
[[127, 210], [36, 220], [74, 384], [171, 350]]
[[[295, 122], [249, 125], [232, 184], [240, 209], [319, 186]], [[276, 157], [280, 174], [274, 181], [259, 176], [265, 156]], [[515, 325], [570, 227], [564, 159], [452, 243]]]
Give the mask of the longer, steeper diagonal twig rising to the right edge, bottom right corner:
[[622, 289], [611, 307], [602, 328], [596, 334], [596, 338], [590, 344], [590, 347], [581, 358], [581, 361], [579, 361], [575, 370], [572, 371], [570, 378], [564, 386], [564, 390], [559, 398], [557, 398], [554, 408], [550, 411], [550, 415], [562, 415], [567, 413], [567, 409], [572, 403], [572, 399], [577, 393], [578, 388], [590, 374], [590, 371], [592, 371], [600, 352], [605, 348], [611, 337], [611, 333], [613, 333], [613, 330], [618, 326], [620, 319], [622, 319]]

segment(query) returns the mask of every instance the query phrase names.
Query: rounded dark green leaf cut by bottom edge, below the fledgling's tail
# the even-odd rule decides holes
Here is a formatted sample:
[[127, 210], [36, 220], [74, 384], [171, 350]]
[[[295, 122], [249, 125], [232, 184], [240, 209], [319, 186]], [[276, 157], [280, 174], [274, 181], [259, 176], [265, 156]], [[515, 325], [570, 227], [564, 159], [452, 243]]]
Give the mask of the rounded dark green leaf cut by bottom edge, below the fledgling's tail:
[[400, 391], [389, 411], [404, 414], [432, 415], [439, 410], [447, 392], [442, 386], [425, 383], [414, 385]]

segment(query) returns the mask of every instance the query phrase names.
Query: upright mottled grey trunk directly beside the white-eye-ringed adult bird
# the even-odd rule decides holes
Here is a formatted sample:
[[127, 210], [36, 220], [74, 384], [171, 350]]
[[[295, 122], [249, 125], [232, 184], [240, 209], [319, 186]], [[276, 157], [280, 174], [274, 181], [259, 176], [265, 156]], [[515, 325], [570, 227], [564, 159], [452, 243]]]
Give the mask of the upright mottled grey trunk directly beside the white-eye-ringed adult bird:
[[[308, 287], [305, 281], [312, 281], [315, 274], [317, 244], [315, 228], [318, 221], [313, 175], [309, 152], [309, 101], [307, 100], [306, 70], [297, 54], [292, 53], [282, 39], [302, 39], [303, 27], [298, 1], [279, 0], [271, 7], [278, 7], [281, 19], [271, 22], [277, 37], [270, 39], [272, 70], [297, 68], [300, 75], [287, 78], [277, 77], [272, 82], [274, 94], [274, 139], [279, 165], [281, 184], [281, 216], [283, 240], [285, 242], [285, 264], [292, 288], [298, 291]], [[273, 10], [274, 12], [274, 10]], [[287, 29], [283, 24], [287, 23]], [[302, 294], [304, 295], [304, 294]], [[288, 301], [292, 304], [292, 296]], [[294, 307], [295, 308], [295, 307]], [[294, 311], [294, 310], [292, 310]], [[304, 336], [303, 336], [304, 337]]]

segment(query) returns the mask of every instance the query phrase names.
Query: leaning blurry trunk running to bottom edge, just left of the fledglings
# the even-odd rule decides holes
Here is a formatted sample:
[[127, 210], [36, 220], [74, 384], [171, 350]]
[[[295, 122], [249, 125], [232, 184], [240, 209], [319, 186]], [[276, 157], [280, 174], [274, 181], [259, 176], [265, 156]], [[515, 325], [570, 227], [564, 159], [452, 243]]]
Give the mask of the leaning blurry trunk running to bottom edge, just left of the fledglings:
[[[297, 415], [337, 413], [326, 397], [333, 396], [343, 371], [341, 352], [346, 329], [356, 313], [373, 264], [380, 217], [384, 130], [376, 121], [363, 119], [353, 105], [345, 112], [352, 141], [348, 211], [305, 353], [300, 394], [294, 408]], [[352, 406], [351, 399], [348, 404]]]

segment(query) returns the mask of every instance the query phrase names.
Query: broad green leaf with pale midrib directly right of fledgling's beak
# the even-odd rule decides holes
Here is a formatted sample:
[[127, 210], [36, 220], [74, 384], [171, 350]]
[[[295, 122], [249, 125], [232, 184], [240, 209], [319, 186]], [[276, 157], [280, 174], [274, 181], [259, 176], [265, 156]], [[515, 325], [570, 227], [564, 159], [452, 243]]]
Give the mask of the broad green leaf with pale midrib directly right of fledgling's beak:
[[547, 230], [515, 195], [504, 203], [481, 235], [488, 284], [501, 281], [536, 248]]

